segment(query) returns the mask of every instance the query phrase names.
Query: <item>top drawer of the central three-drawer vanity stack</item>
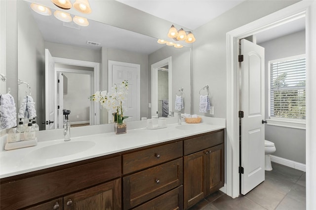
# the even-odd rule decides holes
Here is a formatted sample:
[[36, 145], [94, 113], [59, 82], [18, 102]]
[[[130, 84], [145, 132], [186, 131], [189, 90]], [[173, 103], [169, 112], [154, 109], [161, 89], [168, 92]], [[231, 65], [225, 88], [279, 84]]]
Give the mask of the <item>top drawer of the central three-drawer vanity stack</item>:
[[139, 171], [182, 156], [182, 141], [123, 155], [123, 174]]

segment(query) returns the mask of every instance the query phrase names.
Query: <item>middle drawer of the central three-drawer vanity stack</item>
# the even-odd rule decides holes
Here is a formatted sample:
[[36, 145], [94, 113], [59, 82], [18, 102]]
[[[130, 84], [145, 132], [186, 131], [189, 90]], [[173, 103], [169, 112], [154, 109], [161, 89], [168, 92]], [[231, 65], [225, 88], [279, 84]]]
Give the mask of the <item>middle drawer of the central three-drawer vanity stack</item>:
[[124, 210], [142, 204], [183, 183], [182, 158], [123, 178]]

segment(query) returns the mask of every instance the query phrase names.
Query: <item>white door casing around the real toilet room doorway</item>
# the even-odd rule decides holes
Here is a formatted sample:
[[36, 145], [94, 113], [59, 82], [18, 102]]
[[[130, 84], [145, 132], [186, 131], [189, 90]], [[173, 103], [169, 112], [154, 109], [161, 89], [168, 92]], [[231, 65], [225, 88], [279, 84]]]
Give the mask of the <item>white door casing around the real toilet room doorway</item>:
[[[264, 18], [261, 18], [257, 21], [249, 23], [245, 26], [242, 26], [236, 30], [232, 30], [227, 33], [227, 194], [232, 196], [233, 198], [238, 197], [239, 195], [239, 173], [238, 173], [238, 162], [239, 162], [239, 118], [238, 118], [238, 104], [239, 104], [239, 73], [238, 73], [238, 40], [250, 36], [252, 34], [261, 32], [263, 30], [267, 30], [270, 28], [274, 28], [278, 25], [283, 23], [302, 18], [306, 15], [307, 24], [307, 60], [312, 59], [315, 56], [315, 49], [311, 49], [309, 44], [312, 44], [312, 35], [315, 34], [315, 26], [313, 26], [313, 21], [311, 18], [311, 13], [309, 10], [315, 10], [315, 5], [312, 2], [298, 2], [292, 6], [286, 7], [280, 11], [277, 11], [271, 15], [268, 15]], [[315, 19], [313, 19], [315, 20]], [[312, 69], [315, 64], [312, 63], [312, 60], [307, 62], [307, 75], [311, 77], [315, 77], [315, 75], [310, 72], [309, 70]], [[313, 78], [307, 77], [307, 97], [311, 97], [315, 99], [315, 95], [309, 92], [309, 87], [314, 87], [312, 83], [308, 85], [308, 81], [312, 81]], [[315, 78], [314, 78], [315, 79]], [[312, 101], [310, 101], [312, 104]], [[309, 102], [307, 101], [307, 115], [314, 116], [314, 110], [310, 107]], [[307, 168], [309, 163], [309, 152], [312, 152], [313, 149], [308, 147], [308, 144], [311, 143], [311, 133], [315, 132], [311, 130], [311, 125], [313, 122], [311, 120], [306, 120], [306, 161], [307, 161]], [[311, 169], [311, 168], [310, 168]], [[316, 173], [315, 170], [310, 170], [310, 173]], [[307, 174], [307, 180], [309, 179], [309, 175]], [[310, 180], [311, 183], [313, 182], [312, 179]], [[312, 189], [308, 189], [307, 185], [307, 207], [309, 207], [309, 199], [308, 199], [308, 191], [313, 191]], [[310, 200], [310, 202], [313, 202]]]

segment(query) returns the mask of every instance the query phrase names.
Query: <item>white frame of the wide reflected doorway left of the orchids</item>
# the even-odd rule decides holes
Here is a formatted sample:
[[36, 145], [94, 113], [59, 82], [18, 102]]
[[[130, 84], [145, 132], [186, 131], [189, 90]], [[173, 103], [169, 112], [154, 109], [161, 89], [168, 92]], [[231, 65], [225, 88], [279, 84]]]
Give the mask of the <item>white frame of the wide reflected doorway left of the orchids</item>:
[[[85, 61], [85, 60], [74, 60], [53, 57], [55, 63], [67, 64], [67, 65], [77, 65], [93, 68], [93, 86], [91, 85], [91, 92], [96, 92], [100, 90], [100, 63]], [[56, 70], [55, 70], [56, 72]], [[56, 75], [56, 73], [55, 73]], [[57, 97], [57, 96], [56, 96]], [[57, 101], [55, 101], [57, 103]], [[56, 114], [55, 114], [56, 116]], [[94, 116], [94, 120], [91, 117]], [[100, 124], [100, 103], [90, 102], [90, 124], [98, 125]]]

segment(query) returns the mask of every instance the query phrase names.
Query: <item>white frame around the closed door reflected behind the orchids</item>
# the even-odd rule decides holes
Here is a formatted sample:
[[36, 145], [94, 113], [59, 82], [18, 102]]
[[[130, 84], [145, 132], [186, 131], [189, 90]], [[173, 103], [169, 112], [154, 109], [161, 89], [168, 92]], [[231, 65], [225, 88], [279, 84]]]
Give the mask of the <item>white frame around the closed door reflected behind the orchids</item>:
[[[129, 66], [132, 68], [136, 68], [137, 71], [137, 115], [136, 119], [140, 120], [140, 64], [136, 63], [128, 63], [128, 62], [120, 62], [115, 60], [109, 60], [108, 61], [108, 91], [111, 90], [113, 86], [113, 79], [112, 79], [112, 65], [123, 65], [123, 66]], [[112, 119], [112, 113], [108, 112], [108, 122], [110, 123]]]

